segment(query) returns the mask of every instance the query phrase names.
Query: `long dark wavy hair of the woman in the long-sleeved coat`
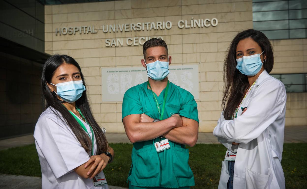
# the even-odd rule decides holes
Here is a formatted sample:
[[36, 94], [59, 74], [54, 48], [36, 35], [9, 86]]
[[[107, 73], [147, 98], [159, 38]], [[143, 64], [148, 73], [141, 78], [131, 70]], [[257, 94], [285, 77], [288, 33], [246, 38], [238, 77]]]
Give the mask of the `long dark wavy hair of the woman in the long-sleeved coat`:
[[270, 73], [273, 69], [274, 56], [270, 40], [260, 31], [248, 29], [239, 32], [228, 47], [228, 53], [224, 61], [224, 94], [222, 107], [224, 118], [232, 119], [235, 109], [239, 106], [247, 88], [249, 87], [247, 76], [236, 69], [236, 49], [240, 40], [246, 38], [253, 39], [264, 51], [266, 60], [263, 63], [265, 70]]

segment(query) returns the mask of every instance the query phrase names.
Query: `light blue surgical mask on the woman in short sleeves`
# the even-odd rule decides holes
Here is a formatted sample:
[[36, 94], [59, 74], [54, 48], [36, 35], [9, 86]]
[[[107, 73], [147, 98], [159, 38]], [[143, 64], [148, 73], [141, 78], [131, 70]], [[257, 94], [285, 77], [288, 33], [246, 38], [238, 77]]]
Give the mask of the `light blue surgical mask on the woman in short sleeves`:
[[85, 91], [82, 80], [58, 83], [54, 86], [56, 86], [56, 94], [68, 103], [76, 102], [82, 96], [83, 91]]

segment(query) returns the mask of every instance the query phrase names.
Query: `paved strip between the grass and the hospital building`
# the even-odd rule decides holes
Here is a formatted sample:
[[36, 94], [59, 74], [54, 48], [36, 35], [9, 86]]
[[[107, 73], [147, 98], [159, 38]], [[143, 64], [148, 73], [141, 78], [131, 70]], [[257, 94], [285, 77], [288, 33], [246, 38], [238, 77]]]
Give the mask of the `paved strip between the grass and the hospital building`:
[[[106, 136], [109, 143], [130, 143], [126, 133], [107, 133]], [[285, 127], [284, 142], [307, 142], [307, 126]], [[33, 143], [33, 134], [9, 138], [0, 140], [0, 150], [17, 146], [25, 146]], [[212, 135], [212, 133], [199, 133], [197, 144], [219, 144], [219, 142], [217, 141], [216, 137]]]

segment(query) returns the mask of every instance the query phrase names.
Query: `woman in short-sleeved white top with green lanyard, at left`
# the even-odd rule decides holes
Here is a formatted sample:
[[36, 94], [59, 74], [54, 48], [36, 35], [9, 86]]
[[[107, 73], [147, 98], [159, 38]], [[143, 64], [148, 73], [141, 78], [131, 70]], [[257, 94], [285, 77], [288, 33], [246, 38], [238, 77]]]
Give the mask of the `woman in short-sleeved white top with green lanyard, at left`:
[[47, 59], [41, 87], [45, 111], [34, 138], [42, 188], [108, 189], [102, 170], [112, 161], [114, 150], [93, 117], [76, 60], [67, 55]]

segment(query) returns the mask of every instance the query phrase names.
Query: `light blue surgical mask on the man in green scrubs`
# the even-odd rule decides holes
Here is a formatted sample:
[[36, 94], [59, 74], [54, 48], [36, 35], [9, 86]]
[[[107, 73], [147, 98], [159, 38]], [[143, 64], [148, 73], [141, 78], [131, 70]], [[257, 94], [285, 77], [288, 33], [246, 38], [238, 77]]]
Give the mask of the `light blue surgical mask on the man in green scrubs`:
[[146, 64], [147, 76], [156, 81], [161, 81], [169, 74], [169, 62], [159, 60]]

